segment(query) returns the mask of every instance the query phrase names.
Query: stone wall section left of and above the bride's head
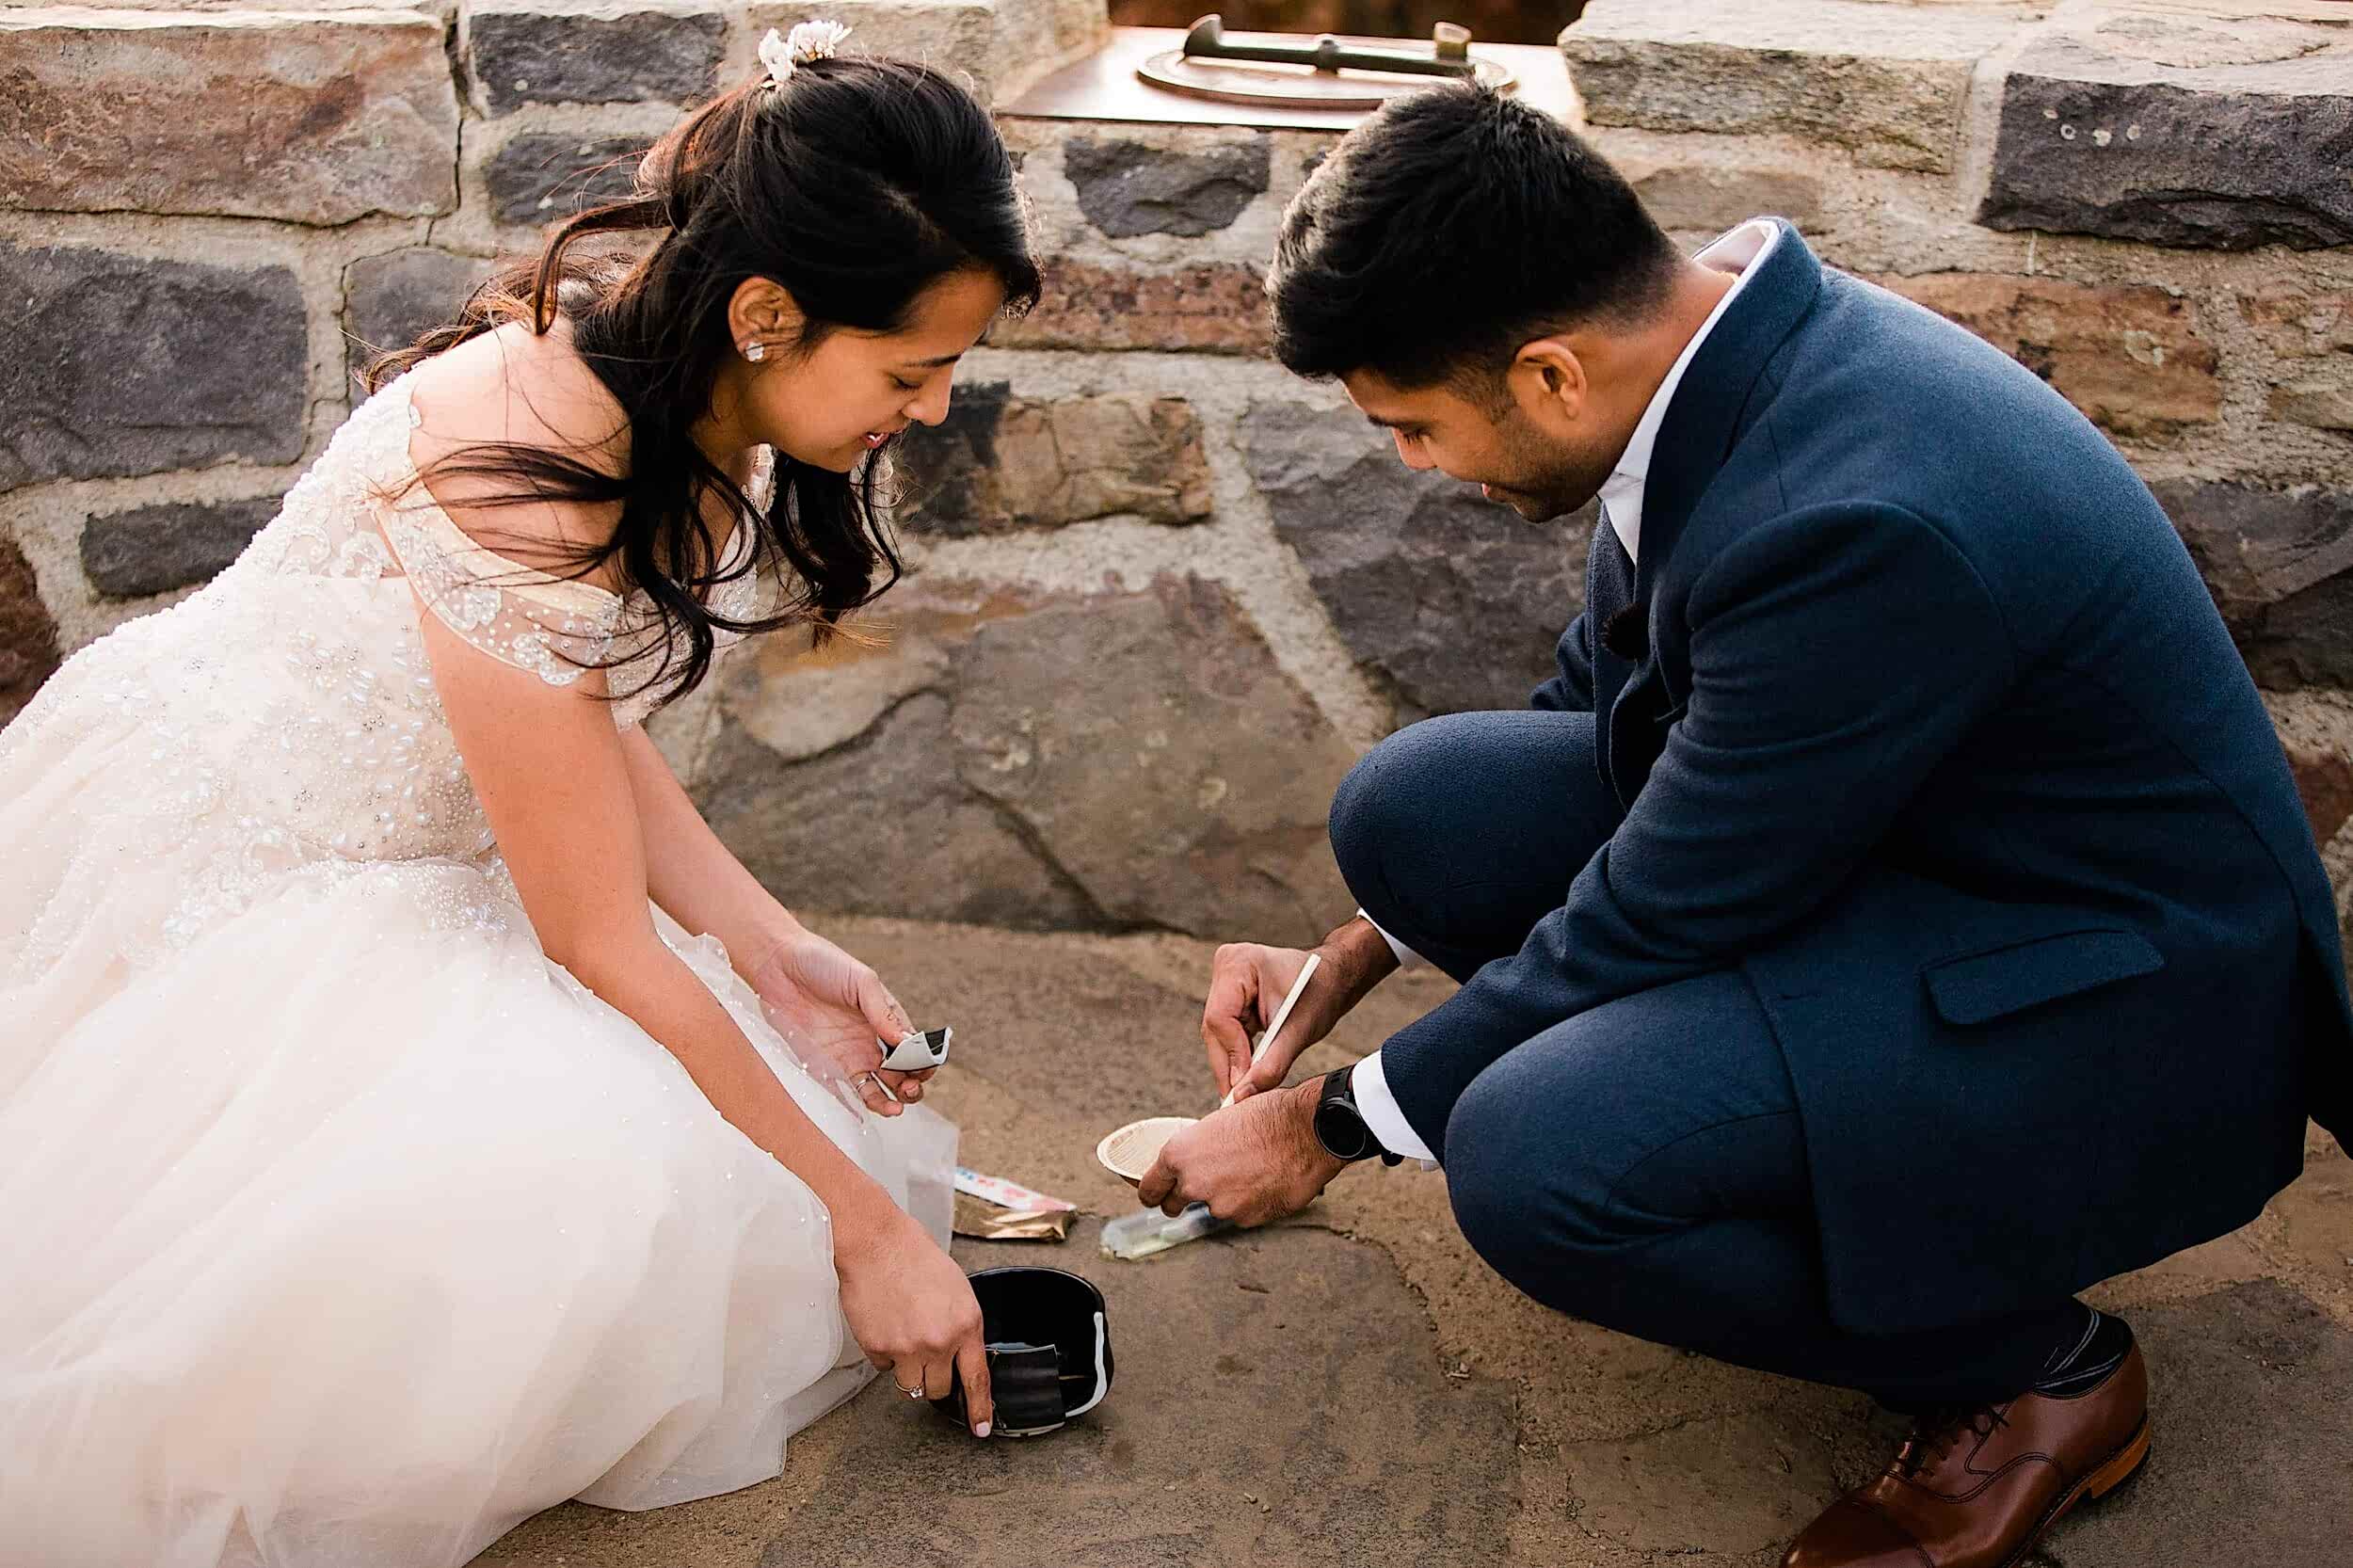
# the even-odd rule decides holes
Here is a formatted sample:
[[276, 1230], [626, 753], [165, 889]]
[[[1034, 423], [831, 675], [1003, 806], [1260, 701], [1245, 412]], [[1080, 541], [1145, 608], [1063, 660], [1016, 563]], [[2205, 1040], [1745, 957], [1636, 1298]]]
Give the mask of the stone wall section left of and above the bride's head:
[[812, 14], [984, 97], [1108, 26], [1101, 0], [0, 2], [0, 716], [231, 560], [372, 346]]

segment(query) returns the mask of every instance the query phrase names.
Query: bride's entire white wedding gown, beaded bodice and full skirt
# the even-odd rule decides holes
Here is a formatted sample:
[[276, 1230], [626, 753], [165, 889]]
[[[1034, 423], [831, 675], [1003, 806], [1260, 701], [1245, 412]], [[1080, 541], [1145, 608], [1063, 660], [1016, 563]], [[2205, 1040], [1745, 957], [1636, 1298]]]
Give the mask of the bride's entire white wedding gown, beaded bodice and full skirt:
[[[774, 1476], [871, 1375], [816, 1196], [541, 954], [419, 636], [553, 683], [609, 645], [626, 692], [645, 605], [388, 499], [412, 421], [369, 398], [0, 732], [5, 1563], [464, 1563]], [[955, 1130], [854, 1109], [656, 923], [946, 1243]]]

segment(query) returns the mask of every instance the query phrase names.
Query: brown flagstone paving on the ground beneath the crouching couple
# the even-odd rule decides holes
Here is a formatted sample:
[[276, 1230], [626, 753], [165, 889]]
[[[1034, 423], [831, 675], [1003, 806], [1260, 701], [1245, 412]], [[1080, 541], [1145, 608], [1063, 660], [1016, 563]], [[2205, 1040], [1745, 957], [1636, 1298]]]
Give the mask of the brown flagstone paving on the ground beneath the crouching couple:
[[[1527, 1563], [1729, 1568], [1781, 1544], [1901, 1436], [1868, 1401], [1548, 1314], [1454, 1231], [1445, 1177], [1355, 1170], [1306, 1215], [1146, 1262], [1106, 1260], [1132, 1191], [1094, 1140], [1207, 1109], [1209, 954], [1174, 937], [904, 921], [821, 930], [920, 1022], [951, 1022], [934, 1104], [967, 1165], [1089, 1217], [1066, 1245], [967, 1243], [967, 1269], [1049, 1262], [1111, 1304], [1118, 1380], [1073, 1427], [974, 1443], [868, 1387], [786, 1474], [652, 1514], [551, 1509], [504, 1568], [1217, 1568]], [[1301, 1071], [1440, 1001], [1400, 975]], [[1565, 1111], [1562, 1135], [1574, 1135]], [[2155, 1387], [2155, 1448], [2061, 1523], [2035, 1568], [2339, 1568], [2353, 1542], [2353, 1165], [2313, 1137], [2254, 1224], [2101, 1285]], [[1897, 1177], [1901, 1172], [1894, 1172]]]

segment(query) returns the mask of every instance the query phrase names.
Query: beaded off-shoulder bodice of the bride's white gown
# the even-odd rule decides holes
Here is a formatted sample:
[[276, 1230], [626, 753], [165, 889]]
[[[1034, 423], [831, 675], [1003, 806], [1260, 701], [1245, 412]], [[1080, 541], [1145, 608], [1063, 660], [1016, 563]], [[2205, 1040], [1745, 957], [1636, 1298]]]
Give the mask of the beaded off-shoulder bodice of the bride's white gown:
[[[169, 909], [136, 921], [151, 930], [120, 932], [132, 951], [193, 937], [289, 873], [496, 869], [433, 685], [426, 612], [553, 685], [609, 664], [621, 727], [659, 704], [649, 603], [480, 549], [412, 483], [412, 419], [407, 379], [362, 403], [226, 572], [85, 647], [0, 732], [0, 768], [16, 749], [108, 758], [75, 800], [71, 859], [89, 864], [56, 866], [45, 930], [26, 932], [19, 963], [54, 956], [125, 864], [172, 888]], [[769, 485], [762, 461], [753, 494]], [[748, 546], [751, 527], [736, 527], [729, 565]], [[746, 572], [711, 607], [755, 617], [762, 593]], [[734, 640], [720, 633], [722, 647]]]

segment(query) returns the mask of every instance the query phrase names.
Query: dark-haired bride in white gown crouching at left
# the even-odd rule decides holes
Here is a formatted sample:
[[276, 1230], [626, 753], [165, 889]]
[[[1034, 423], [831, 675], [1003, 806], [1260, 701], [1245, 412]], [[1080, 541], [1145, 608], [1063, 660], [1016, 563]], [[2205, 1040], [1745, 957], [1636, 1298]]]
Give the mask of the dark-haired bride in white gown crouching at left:
[[988, 1434], [908, 1019], [640, 727], [889, 586], [880, 450], [1038, 292], [988, 115], [838, 35], [0, 732], [9, 1561], [461, 1563], [774, 1476], [873, 1368]]

